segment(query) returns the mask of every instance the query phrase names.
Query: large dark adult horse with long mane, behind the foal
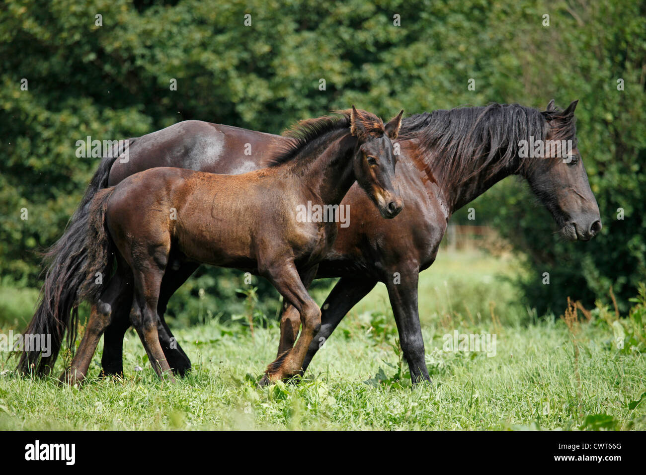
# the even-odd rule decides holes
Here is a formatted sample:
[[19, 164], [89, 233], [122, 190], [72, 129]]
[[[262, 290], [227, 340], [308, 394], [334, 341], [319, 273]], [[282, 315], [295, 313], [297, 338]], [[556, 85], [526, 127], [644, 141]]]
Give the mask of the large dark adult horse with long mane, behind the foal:
[[[382, 220], [370, 198], [356, 184], [342, 204], [349, 204], [362, 219], [339, 227], [335, 246], [319, 267], [317, 277], [340, 277], [322, 306], [322, 325], [309, 346], [303, 370], [348, 311], [377, 282], [388, 288], [404, 357], [414, 383], [429, 380], [424, 362], [417, 281], [437, 255], [450, 216], [484, 193], [496, 182], [520, 174], [550, 211], [561, 235], [569, 240], [589, 240], [601, 229], [599, 208], [590, 190], [583, 161], [576, 146], [572, 102], [565, 111], [550, 101], [546, 111], [521, 105], [491, 104], [451, 111], [417, 114], [402, 121], [395, 146], [399, 146], [397, 176], [406, 207], [394, 220]], [[47, 373], [68, 329], [68, 344], [74, 338], [76, 289], [84, 276], [72, 277], [87, 259], [83, 241], [89, 229], [89, 202], [97, 191], [115, 185], [130, 174], [159, 166], [174, 166], [211, 173], [244, 173], [264, 167], [275, 147], [290, 138], [216, 125], [184, 121], [131, 140], [129, 160], [104, 158], [63, 237], [48, 251], [49, 269], [43, 285], [43, 301], [27, 332], [52, 333], [50, 357], [23, 354], [19, 369]], [[570, 141], [566, 157], [547, 147], [545, 156], [521, 156], [523, 141]], [[251, 154], [248, 151], [251, 150]], [[113, 155], [118, 155], [114, 153]], [[183, 374], [190, 361], [163, 321], [172, 293], [196, 269], [196, 264], [169, 265], [161, 284], [158, 303], [160, 342], [171, 368]], [[68, 284], [64, 284], [68, 282]], [[71, 284], [69, 284], [71, 282]], [[52, 295], [61, 295], [53, 299]], [[105, 331], [103, 372], [120, 374], [123, 335], [130, 326], [127, 304], [112, 309]], [[52, 318], [53, 317], [53, 318]], [[45, 322], [56, 322], [48, 324]], [[291, 348], [300, 321], [298, 312], [287, 308], [281, 320], [278, 354]], [[172, 346], [172, 348], [171, 348]]]

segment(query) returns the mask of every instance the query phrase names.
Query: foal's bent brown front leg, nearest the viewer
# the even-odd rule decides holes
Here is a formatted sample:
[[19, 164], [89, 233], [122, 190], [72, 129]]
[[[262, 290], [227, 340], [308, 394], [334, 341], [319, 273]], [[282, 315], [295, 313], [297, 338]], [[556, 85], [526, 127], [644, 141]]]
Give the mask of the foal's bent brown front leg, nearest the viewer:
[[284, 301], [298, 310], [303, 328], [295, 346], [269, 364], [266, 377], [263, 378], [261, 384], [269, 381], [273, 383], [280, 379], [302, 374], [303, 359], [305, 358], [307, 347], [320, 328], [321, 315], [316, 302], [309, 296], [307, 289], [300, 280], [300, 275], [298, 275], [293, 262], [289, 262], [287, 265], [279, 264], [270, 269], [267, 272], [267, 277], [283, 296]]

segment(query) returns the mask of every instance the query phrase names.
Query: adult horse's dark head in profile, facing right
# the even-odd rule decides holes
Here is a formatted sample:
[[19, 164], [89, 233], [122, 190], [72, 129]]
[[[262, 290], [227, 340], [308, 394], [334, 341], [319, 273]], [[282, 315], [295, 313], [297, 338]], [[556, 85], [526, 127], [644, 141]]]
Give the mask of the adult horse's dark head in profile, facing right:
[[534, 155], [525, 175], [532, 191], [554, 216], [561, 235], [572, 241], [587, 241], [601, 230], [601, 216], [577, 147], [577, 103], [573, 101], [561, 112], [552, 100], [541, 112], [546, 121], [544, 154]]

